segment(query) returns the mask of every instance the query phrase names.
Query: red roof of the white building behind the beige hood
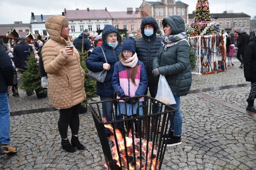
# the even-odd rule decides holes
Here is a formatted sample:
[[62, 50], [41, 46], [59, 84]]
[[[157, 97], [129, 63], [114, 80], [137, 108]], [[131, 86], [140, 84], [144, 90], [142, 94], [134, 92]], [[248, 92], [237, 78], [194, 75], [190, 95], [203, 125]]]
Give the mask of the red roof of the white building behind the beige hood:
[[68, 20], [112, 19], [106, 9], [66, 10]]

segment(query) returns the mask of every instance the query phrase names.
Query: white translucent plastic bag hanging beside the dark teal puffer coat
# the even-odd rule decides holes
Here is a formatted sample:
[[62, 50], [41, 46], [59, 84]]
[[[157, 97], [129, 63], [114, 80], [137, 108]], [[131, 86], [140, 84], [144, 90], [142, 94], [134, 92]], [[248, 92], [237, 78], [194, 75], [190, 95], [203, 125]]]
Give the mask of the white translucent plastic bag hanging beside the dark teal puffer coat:
[[176, 101], [171, 92], [171, 88], [168, 85], [165, 76], [160, 74], [158, 89], [156, 93], [156, 100], [162, 101], [165, 104], [176, 104]]

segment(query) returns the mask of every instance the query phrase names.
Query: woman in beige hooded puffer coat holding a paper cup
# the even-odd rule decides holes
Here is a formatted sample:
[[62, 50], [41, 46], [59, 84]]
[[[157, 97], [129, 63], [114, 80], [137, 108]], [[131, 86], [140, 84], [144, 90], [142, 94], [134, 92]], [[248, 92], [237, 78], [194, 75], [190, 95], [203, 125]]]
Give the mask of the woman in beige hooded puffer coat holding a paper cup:
[[[80, 56], [66, 46], [73, 45], [69, 36], [69, 22], [66, 17], [53, 15], [45, 22], [50, 39], [43, 46], [42, 59], [48, 73], [50, 104], [60, 109], [58, 129], [62, 138], [61, 146], [68, 152], [84, 150], [78, 140], [79, 110], [86, 99], [84, 89], [85, 71], [80, 66]], [[71, 144], [68, 139], [71, 129]]]

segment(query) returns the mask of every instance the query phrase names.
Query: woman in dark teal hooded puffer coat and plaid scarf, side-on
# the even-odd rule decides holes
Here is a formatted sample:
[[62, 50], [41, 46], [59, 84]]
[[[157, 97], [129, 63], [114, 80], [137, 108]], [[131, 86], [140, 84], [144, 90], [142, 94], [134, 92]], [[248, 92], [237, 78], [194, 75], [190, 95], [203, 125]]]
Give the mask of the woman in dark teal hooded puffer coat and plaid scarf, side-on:
[[[182, 114], [180, 111], [180, 97], [188, 94], [191, 82], [191, 66], [189, 62], [190, 46], [187, 42], [185, 23], [178, 15], [164, 18], [163, 27], [165, 35], [162, 38], [162, 46], [153, 59], [153, 71], [155, 76], [166, 76], [176, 104], [171, 106], [178, 111], [174, 114], [171, 127], [171, 136], [166, 141], [167, 146], [181, 144]], [[172, 117], [172, 116], [170, 116]]]

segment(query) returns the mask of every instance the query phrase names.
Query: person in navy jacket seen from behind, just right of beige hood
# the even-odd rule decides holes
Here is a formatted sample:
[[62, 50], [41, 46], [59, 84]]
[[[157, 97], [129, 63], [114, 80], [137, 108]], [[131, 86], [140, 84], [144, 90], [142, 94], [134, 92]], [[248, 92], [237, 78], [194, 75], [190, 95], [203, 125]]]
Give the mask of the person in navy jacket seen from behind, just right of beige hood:
[[[74, 40], [73, 45], [75, 46], [75, 48], [82, 52], [82, 44], [83, 44], [83, 37], [84, 37], [84, 52], [88, 51], [89, 49], [91, 49], [91, 43], [90, 40], [87, 38], [90, 35], [88, 29], [84, 30], [84, 32], [82, 32], [78, 38], [76, 38]], [[90, 56], [91, 52], [88, 52], [88, 56]]]

